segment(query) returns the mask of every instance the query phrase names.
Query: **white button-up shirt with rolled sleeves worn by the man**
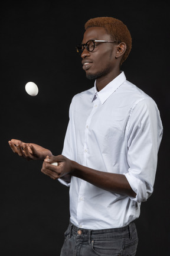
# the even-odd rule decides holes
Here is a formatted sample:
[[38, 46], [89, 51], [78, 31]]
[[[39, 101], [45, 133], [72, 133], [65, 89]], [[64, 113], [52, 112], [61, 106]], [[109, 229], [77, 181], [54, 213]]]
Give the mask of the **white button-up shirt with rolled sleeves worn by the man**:
[[139, 217], [153, 192], [162, 123], [155, 101], [120, 73], [101, 91], [73, 97], [63, 155], [98, 171], [123, 174], [136, 198], [71, 177], [70, 220], [81, 228], [119, 228]]

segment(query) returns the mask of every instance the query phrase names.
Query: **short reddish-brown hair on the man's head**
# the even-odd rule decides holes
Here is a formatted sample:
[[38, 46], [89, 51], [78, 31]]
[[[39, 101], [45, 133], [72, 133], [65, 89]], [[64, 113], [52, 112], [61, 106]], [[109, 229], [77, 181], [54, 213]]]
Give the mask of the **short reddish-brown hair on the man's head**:
[[127, 59], [130, 50], [132, 49], [132, 37], [125, 24], [122, 21], [113, 17], [98, 17], [91, 18], [84, 25], [85, 30], [90, 27], [103, 27], [107, 34], [110, 34], [111, 39], [120, 43], [126, 44], [126, 51], [122, 56], [120, 65]]

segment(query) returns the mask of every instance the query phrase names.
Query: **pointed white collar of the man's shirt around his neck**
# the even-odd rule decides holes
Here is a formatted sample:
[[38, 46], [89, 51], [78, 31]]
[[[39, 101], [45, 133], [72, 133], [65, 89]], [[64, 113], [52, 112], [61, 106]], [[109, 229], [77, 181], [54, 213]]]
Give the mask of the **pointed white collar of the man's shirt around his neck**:
[[103, 104], [107, 100], [107, 98], [109, 98], [109, 96], [113, 94], [113, 92], [115, 92], [116, 89], [123, 84], [123, 82], [125, 82], [125, 80], [126, 80], [126, 76], [125, 76], [125, 73], [122, 71], [120, 75], [116, 76], [116, 78], [113, 79], [111, 82], [109, 82], [109, 84], [107, 84], [106, 87], [104, 87], [101, 91], [97, 91], [96, 81], [95, 81], [94, 94], [92, 97], [92, 101], [97, 96], [99, 97], [101, 103]]

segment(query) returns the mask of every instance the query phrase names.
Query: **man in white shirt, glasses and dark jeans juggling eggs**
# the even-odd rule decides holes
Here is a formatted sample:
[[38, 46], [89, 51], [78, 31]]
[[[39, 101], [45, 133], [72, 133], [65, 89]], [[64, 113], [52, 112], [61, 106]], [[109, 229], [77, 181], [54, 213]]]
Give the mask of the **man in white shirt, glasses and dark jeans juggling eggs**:
[[85, 30], [77, 52], [95, 83], [73, 97], [62, 155], [20, 140], [9, 145], [19, 156], [44, 160], [41, 171], [70, 186], [61, 256], [135, 255], [134, 220], [153, 192], [162, 123], [152, 98], [120, 72], [132, 47], [126, 25], [99, 17]]

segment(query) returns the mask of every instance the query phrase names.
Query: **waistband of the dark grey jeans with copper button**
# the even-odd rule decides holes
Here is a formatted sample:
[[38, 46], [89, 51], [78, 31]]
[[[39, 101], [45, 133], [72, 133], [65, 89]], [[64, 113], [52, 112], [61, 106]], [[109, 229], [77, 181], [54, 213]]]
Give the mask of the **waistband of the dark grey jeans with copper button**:
[[70, 236], [76, 236], [79, 239], [110, 239], [110, 238], [125, 238], [129, 236], [132, 238], [132, 233], [136, 229], [134, 222], [129, 223], [127, 226], [122, 228], [111, 228], [111, 229], [83, 229], [77, 226], [74, 226], [70, 222], [68, 230]]

